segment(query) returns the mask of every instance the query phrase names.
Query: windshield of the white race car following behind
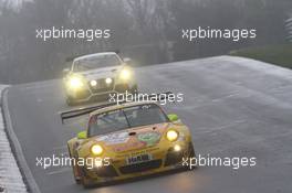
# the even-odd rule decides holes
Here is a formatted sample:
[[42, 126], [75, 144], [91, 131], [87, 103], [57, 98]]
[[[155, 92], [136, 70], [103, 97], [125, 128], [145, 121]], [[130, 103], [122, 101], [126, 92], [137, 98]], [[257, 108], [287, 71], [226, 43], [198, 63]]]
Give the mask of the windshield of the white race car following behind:
[[75, 61], [73, 64], [73, 71], [84, 72], [101, 67], [117, 66], [119, 64], [121, 61], [115, 54], [95, 55]]

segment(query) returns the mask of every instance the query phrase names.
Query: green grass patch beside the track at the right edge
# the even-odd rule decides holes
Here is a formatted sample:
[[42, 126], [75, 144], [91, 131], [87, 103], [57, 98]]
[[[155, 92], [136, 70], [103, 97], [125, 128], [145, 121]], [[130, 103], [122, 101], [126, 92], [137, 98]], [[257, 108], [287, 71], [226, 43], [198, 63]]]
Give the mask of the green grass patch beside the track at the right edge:
[[250, 57], [292, 68], [292, 43], [281, 45], [267, 45], [231, 51], [229, 55]]

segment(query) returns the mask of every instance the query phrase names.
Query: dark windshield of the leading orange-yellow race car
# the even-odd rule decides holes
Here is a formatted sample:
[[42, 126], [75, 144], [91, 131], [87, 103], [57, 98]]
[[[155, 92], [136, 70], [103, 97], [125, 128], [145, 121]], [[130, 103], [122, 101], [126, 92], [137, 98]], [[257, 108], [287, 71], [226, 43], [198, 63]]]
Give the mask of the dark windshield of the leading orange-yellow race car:
[[88, 136], [167, 121], [169, 120], [159, 106], [155, 104], [138, 105], [92, 116], [88, 124]]

